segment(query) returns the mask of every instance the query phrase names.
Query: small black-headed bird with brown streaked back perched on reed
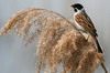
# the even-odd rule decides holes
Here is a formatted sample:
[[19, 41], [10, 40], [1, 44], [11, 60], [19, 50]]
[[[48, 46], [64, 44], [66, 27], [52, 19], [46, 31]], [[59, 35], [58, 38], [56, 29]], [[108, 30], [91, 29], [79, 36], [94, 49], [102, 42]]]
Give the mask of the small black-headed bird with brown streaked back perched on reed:
[[[103, 51], [97, 40], [97, 36], [98, 36], [97, 30], [96, 30], [91, 19], [86, 13], [84, 7], [80, 3], [75, 3], [72, 7], [74, 8], [74, 11], [75, 11], [75, 13], [74, 13], [75, 27], [79, 31], [90, 34], [96, 42], [98, 53], [103, 53]], [[105, 72], [108, 73], [103, 62], [101, 63], [101, 66], [105, 70]]]

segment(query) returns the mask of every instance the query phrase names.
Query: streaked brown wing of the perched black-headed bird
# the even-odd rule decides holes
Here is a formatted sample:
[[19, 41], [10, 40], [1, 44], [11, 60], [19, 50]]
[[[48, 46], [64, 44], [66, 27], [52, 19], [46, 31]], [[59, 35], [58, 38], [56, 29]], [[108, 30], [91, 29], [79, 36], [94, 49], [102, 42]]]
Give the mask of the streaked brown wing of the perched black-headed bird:
[[97, 34], [97, 30], [94, 27], [92, 21], [90, 20], [90, 18], [86, 14], [86, 12], [81, 12], [75, 15], [75, 20], [77, 21], [78, 24], [80, 24], [81, 27], [84, 27], [87, 31], [89, 31], [91, 34], [94, 35], [98, 35]]

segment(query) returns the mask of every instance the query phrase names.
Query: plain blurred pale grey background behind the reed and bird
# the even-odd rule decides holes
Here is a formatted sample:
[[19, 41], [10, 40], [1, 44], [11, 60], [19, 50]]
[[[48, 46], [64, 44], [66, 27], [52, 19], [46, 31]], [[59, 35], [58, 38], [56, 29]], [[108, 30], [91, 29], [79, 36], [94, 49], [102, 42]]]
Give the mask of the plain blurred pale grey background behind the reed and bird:
[[[110, 72], [110, 0], [0, 0], [0, 28], [15, 12], [34, 7], [53, 10], [68, 20], [73, 19], [72, 4], [84, 4], [98, 30], [105, 49], [106, 66]], [[0, 73], [35, 73], [35, 43], [24, 46], [15, 34], [0, 36]], [[101, 67], [96, 73], [103, 73]]]

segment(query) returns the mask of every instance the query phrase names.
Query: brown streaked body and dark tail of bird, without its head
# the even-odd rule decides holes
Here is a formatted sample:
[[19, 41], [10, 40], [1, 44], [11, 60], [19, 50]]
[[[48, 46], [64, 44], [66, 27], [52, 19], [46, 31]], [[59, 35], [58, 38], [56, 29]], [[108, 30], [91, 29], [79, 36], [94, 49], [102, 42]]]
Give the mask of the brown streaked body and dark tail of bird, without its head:
[[96, 41], [98, 52], [102, 53], [102, 49], [97, 40], [97, 36], [98, 36], [97, 30], [96, 30], [92, 21], [90, 20], [90, 18], [87, 15], [87, 13], [85, 11], [80, 11], [74, 15], [74, 20], [77, 22], [77, 24], [82, 27], [82, 29], [77, 27], [80, 31], [90, 33], [90, 35]]

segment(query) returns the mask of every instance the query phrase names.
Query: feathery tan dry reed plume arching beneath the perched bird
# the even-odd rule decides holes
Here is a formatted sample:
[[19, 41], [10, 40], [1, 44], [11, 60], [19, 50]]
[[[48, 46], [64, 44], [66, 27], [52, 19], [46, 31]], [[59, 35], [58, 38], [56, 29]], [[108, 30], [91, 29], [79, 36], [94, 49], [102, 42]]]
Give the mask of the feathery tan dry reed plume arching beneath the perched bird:
[[91, 38], [86, 41], [74, 23], [50, 10], [29, 8], [8, 20], [1, 35], [16, 32], [25, 44], [37, 39], [36, 73], [92, 73], [103, 61]]

